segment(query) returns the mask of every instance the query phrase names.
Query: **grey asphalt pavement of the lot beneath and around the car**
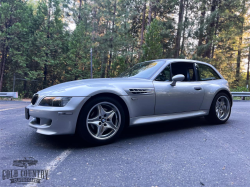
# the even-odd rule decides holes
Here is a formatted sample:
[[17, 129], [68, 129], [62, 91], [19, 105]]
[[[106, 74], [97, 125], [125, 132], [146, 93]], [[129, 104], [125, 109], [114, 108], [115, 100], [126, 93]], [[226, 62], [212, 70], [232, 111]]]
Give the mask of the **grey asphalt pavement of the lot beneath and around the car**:
[[[0, 101], [0, 170], [38, 160], [48, 180], [26, 186], [250, 186], [250, 102], [235, 102], [229, 121], [204, 118], [136, 126], [115, 143], [89, 147], [75, 136], [28, 127], [25, 102]], [[22, 186], [0, 179], [0, 186]]]

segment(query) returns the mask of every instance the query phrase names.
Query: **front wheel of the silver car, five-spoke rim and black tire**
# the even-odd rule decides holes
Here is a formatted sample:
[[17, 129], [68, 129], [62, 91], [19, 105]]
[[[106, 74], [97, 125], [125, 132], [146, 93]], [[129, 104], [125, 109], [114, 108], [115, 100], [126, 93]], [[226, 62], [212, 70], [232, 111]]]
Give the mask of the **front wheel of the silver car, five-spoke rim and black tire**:
[[91, 145], [114, 142], [125, 127], [125, 111], [111, 97], [99, 97], [86, 103], [77, 120], [77, 135]]

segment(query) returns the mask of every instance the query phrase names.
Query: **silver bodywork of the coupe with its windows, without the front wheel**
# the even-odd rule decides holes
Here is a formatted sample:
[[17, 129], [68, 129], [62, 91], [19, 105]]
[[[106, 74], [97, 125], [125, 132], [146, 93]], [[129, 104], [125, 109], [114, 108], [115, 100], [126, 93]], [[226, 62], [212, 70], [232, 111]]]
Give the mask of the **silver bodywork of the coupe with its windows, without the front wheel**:
[[[227, 107], [231, 111], [232, 96], [228, 82], [208, 63], [158, 59], [137, 64], [130, 71], [133, 73], [128, 72], [117, 78], [65, 82], [37, 92], [32, 99], [33, 104], [26, 107], [26, 118], [32, 117], [29, 126], [45, 135], [74, 134], [81, 110], [91, 99], [98, 97], [117, 100], [124, 109], [126, 125], [130, 126], [208, 116], [218, 93], [226, 95], [227, 105], [230, 105]], [[67, 104], [63, 107], [46, 106], [51, 102], [48, 99], [40, 106], [45, 97], [66, 98]]]

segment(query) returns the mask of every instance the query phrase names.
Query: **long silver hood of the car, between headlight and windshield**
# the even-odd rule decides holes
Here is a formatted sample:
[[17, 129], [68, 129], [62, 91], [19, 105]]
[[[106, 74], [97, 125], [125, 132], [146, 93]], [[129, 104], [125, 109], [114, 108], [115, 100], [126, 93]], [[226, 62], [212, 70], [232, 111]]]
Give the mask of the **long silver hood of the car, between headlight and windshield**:
[[152, 81], [138, 78], [83, 79], [57, 84], [38, 92], [43, 96], [92, 96], [108, 92], [127, 95], [124, 88], [153, 87]]

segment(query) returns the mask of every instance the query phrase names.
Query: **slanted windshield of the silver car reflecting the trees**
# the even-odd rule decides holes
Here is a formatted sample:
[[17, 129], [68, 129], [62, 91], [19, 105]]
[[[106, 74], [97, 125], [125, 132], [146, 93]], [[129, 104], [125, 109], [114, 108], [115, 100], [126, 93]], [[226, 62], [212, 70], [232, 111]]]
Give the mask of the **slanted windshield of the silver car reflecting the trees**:
[[149, 79], [164, 63], [165, 61], [141, 62], [121, 73], [118, 77]]

